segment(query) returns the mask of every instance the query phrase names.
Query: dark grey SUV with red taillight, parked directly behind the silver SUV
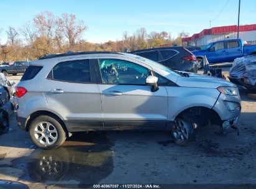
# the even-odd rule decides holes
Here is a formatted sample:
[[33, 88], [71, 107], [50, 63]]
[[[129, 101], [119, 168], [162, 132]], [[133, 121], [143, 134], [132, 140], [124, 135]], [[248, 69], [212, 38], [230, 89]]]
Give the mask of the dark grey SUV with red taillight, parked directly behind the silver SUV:
[[173, 70], [197, 73], [196, 57], [184, 47], [148, 48], [130, 53], [161, 63]]

